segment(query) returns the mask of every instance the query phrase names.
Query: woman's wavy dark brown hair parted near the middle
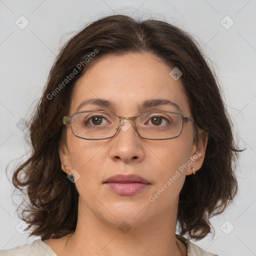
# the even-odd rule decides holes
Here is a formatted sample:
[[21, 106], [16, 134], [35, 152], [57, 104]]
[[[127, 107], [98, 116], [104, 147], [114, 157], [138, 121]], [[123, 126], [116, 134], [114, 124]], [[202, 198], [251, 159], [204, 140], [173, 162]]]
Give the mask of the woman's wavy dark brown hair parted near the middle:
[[[84, 63], [95, 49], [97, 53], [79, 70], [77, 64]], [[164, 21], [106, 16], [85, 26], [61, 48], [28, 120], [31, 155], [15, 169], [12, 182], [27, 194], [20, 217], [28, 223], [30, 235], [59, 238], [75, 230], [78, 192], [60, 166], [58, 146], [65, 141], [61, 118], [69, 114], [73, 87], [86, 67], [100, 56], [131, 52], [149, 52], [182, 71], [194, 117], [194, 140], [200, 139], [199, 130], [208, 133], [203, 164], [196, 175], [186, 176], [179, 194], [180, 234], [203, 238], [212, 230], [209, 218], [221, 213], [235, 196], [235, 162], [241, 150], [235, 145], [219, 82], [198, 44], [188, 33]], [[74, 68], [77, 74], [59, 86]]]

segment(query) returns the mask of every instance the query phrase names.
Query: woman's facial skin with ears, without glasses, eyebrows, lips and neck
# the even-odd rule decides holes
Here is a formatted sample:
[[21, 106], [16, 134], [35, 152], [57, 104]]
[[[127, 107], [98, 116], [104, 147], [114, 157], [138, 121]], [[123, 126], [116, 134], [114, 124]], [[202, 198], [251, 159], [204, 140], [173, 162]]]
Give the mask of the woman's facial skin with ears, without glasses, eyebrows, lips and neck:
[[[103, 56], [77, 80], [70, 114], [82, 101], [100, 98], [111, 101], [113, 106], [89, 104], [79, 111], [105, 110], [134, 116], [166, 110], [191, 116], [181, 79], [174, 80], [169, 75], [171, 69], [150, 53]], [[171, 104], [138, 108], [153, 99], [170, 100], [180, 111]], [[77, 173], [80, 175], [75, 181], [79, 208], [85, 216], [93, 214], [113, 226], [123, 221], [140, 226], [158, 220], [160, 215], [176, 216], [185, 176], [192, 173], [191, 166], [195, 171], [199, 169], [204, 157], [205, 145], [193, 143], [192, 122], [184, 123], [178, 137], [166, 140], [140, 138], [132, 125], [103, 140], [81, 139], [73, 135], [69, 125], [66, 128], [67, 148], [63, 143], [59, 155], [66, 173], [73, 169], [76, 178]], [[149, 184], [141, 185], [143, 189], [132, 195], [123, 195], [104, 183], [115, 174], [137, 174]]]

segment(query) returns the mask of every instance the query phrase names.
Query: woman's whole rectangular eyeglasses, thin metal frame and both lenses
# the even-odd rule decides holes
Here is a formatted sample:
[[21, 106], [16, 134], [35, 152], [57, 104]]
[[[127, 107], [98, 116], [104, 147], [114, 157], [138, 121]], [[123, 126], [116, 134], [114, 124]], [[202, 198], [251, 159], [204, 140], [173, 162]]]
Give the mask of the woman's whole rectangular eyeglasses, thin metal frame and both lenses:
[[69, 124], [76, 137], [83, 139], [107, 139], [113, 137], [119, 128], [126, 131], [134, 121], [137, 134], [146, 139], [171, 139], [180, 135], [183, 123], [193, 121], [181, 113], [153, 111], [131, 117], [107, 111], [90, 110], [75, 112], [62, 118]]

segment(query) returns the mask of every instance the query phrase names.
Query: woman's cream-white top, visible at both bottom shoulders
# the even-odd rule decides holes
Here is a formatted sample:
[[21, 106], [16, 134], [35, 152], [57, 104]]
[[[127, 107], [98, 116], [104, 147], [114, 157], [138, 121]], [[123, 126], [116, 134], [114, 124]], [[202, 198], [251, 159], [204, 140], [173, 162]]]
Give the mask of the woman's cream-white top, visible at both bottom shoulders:
[[[217, 256], [204, 251], [196, 244], [190, 242], [185, 237], [176, 237], [186, 244], [187, 256]], [[0, 250], [0, 256], [57, 256], [57, 254], [42, 240], [34, 240], [31, 244], [24, 244], [8, 250]]]

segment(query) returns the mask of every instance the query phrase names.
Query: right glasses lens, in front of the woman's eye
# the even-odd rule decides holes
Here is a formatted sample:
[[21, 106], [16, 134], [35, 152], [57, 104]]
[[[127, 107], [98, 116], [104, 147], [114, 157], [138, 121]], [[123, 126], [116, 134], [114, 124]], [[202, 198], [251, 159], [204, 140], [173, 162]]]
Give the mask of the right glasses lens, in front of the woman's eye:
[[140, 136], [145, 138], [172, 138], [181, 132], [182, 117], [169, 112], [146, 113], [138, 116], [136, 127]]

